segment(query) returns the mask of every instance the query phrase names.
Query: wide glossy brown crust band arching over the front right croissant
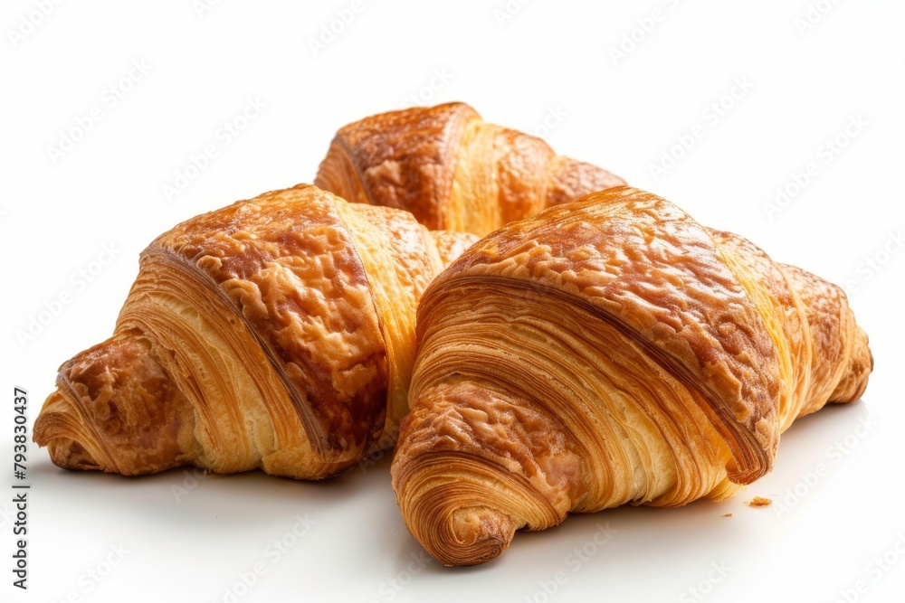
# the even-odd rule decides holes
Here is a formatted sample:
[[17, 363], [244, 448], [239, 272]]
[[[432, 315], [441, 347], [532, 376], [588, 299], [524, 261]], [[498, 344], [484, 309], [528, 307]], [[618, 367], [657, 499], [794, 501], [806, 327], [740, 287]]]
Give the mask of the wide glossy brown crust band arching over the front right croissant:
[[611, 189], [512, 223], [438, 278], [424, 313], [445, 283], [470, 276], [518, 278], [594, 308], [697, 387], [734, 448], [739, 482], [769, 470], [778, 437], [769, 427], [776, 352], [708, 232], [672, 203]]

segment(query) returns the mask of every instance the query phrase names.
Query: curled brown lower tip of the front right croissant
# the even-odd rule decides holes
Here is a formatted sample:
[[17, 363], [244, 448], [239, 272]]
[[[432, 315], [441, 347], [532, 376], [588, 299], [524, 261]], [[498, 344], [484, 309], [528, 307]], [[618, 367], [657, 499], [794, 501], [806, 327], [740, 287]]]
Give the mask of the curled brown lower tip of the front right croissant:
[[[567, 448], [575, 444], [553, 427], [555, 416], [512, 403], [509, 394], [474, 382], [444, 384], [425, 393], [434, 405], [429, 411], [416, 406], [419, 411], [409, 413], [402, 428], [404, 454], [418, 457], [421, 464], [408, 479], [405, 461], [400, 462], [403, 473], [396, 479], [405, 485], [400, 500], [412, 500], [434, 518], [412, 527], [430, 531], [415, 536], [436, 559], [447, 565], [489, 561], [531, 519], [540, 526], [561, 521], [569, 491], [574, 491], [568, 477], [579, 473], [581, 465], [576, 451]], [[424, 470], [427, 465], [429, 471]], [[506, 479], [516, 471], [519, 479]], [[488, 480], [500, 487], [488, 488]], [[406, 488], [429, 493], [408, 499]], [[524, 517], [529, 521], [519, 521]], [[457, 545], [431, 546], [446, 539]]]

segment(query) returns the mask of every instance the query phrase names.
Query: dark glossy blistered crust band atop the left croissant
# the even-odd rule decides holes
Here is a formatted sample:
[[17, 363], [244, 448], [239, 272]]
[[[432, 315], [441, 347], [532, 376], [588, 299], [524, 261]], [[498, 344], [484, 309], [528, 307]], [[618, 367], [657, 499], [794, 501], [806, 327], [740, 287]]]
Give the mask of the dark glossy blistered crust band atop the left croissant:
[[386, 410], [386, 344], [354, 245], [333, 198], [295, 188], [183, 222], [145, 252], [219, 287], [324, 454], [367, 448]]

